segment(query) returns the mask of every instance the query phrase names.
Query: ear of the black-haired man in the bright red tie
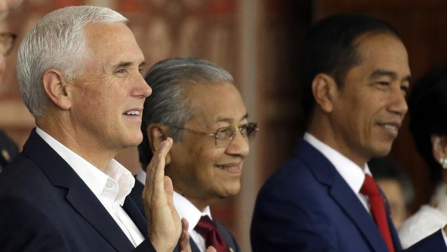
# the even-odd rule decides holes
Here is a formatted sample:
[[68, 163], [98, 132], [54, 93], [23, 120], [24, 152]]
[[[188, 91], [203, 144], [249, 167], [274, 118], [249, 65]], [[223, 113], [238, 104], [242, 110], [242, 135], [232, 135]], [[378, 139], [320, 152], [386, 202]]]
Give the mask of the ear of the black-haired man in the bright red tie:
[[338, 89], [337, 83], [328, 74], [317, 74], [312, 81], [312, 93], [316, 104], [326, 113], [330, 113], [334, 109], [334, 95]]

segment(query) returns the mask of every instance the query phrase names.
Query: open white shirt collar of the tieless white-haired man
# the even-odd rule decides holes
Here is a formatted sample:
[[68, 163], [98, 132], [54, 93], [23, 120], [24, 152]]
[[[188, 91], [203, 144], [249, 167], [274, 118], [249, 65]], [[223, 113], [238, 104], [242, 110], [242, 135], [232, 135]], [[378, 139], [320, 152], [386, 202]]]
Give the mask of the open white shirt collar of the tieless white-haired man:
[[[74, 169], [80, 179], [85, 182], [85, 185], [102, 203], [105, 200], [109, 203], [118, 203], [121, 206], [124, 204], [126, 196], [129, 195], [133, 185], [135, 185], [135, 178], [129, 170], [112, 159], [103, 172], [39, 127], [36, 127], [36, 133]], [[113, 193], [112, 196], [111, 193]], [[107, 199], [104, 199], [104, 197], [107, 197]]]

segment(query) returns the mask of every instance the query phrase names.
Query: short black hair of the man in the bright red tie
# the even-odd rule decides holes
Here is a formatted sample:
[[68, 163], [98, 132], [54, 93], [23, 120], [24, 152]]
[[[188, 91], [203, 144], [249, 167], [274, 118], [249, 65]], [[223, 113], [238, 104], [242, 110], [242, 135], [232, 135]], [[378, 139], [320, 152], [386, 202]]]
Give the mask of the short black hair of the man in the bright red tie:
[[397, 38], [394, 28], [364, 14], [338, 14], [319, 21], [307, 34], [301, 52], [301, 94], [306, 123], [314, 109], [312, 81], [320, 73], [329, 74], [339, 86], [351, 67], [358, 65], [356, 39], [362, 34], [384, 32]]

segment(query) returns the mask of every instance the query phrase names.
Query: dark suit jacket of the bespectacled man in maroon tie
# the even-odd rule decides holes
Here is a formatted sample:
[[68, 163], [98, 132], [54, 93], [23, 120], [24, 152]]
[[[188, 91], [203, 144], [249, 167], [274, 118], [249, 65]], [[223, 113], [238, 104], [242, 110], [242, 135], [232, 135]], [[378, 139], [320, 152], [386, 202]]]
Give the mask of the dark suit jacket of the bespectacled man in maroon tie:
[[[138, 181], [135, 180], [135, 186], [133, 187], [131, 193], [129, 196], [132, 198], [132, 200], [137, 204], [138, 208], [142, 213], [144, 213], [144, 207], [143, 207], [143, 199], [142, 199], [142, 193], [143, 193], [144, 185]], [[230, 252], [240, 252], [241, 249], [239, 249], [239, 245], [237, 244], [235, 238], [231, 235], [230, 232], [228, 232], [219, 222], [212, 220], [214, 224], [216, 225], [217, 229], [221, 231], [223, 238], [225, 238], [226, 244], [228, 246], [228, 249], [230, 249]], [[189, 243], [191, 245], [191, 251], [192, 252], [199, 252], [199, 248], [195, 244], [193, 238], [189, 238]], [[178, 249], [176, 249], [178, 250]]]

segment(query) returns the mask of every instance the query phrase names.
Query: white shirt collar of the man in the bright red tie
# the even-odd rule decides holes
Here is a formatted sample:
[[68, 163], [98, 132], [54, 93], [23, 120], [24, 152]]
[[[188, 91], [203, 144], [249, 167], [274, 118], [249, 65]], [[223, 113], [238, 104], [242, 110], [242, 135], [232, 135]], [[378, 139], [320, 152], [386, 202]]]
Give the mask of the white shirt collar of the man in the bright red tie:
[[340, 154], [340, 152], [336, 151], [329, 145], [318, 140], [312, 134], [306, 132], [304, 134], [304, 140], [307, 141], [310, 145], [312, 145], [315, 149], [323, 154], [331, 163], [334, 165], [340, 176], [347, 182], [349, 187], [351, 187], [352, 191], [355, 193], [360, 193], [360, 189], [362, 188], [364, 181], [364, 174], [369, 174], [371, 176], [371, 171], [369, 171], [369, 167], [367, 163], [364, 164], [364, 168], [356, 165], [355, 162]]

